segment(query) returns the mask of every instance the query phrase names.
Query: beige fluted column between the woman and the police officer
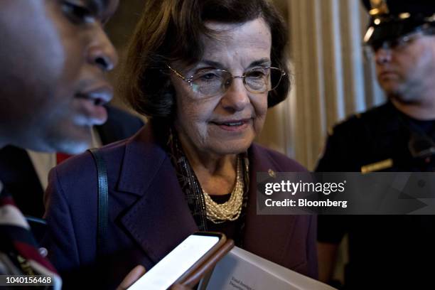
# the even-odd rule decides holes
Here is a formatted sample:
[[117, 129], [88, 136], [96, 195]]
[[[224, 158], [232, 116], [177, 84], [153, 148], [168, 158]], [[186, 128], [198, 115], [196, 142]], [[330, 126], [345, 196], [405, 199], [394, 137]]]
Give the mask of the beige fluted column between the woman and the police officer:
[[372, 60], [363, 55], [368, 16], [360, 0], [285, 2], [293, 88], [281, 109], [269, 116], [259, 140], [312, 170], [328, 129], [350, 114], [380, 104], [384, 97]]

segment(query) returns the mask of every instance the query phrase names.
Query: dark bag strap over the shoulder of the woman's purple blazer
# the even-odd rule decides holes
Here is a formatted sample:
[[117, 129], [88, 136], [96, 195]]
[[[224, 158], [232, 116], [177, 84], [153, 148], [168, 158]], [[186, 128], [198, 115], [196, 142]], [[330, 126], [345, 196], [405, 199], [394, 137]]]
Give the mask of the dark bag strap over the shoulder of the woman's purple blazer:
[[109, 188], [107, 186], [106, 163], [98, 149], [89, 149], [95, 160], [98, 173], [98, 217], [97, 217], [97, 254], [106, 248], [107, 224], [109, 221]]

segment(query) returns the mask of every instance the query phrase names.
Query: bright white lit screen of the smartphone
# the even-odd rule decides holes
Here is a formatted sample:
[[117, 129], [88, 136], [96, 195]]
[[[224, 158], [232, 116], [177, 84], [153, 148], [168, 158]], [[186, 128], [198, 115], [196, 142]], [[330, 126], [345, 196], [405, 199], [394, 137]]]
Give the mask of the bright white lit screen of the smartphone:
[[128, 290], [168, 289], [218, 242], [218, 236], [190, 235]]

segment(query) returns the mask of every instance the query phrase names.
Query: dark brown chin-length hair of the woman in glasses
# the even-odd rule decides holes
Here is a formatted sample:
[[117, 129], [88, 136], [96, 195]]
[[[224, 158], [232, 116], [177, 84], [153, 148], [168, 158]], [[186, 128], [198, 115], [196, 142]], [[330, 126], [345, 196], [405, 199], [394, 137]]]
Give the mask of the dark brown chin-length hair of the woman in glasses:
[[272, 66], [286, 72], [269, 92], [268, 106], [289, 92], [287, 31], [284, 20], [268, 0], [147, 0], [129, 43], [121, 78], [127, 102], [147, 117], [171, 118], [175, 112], [173, 89], [166, 63], [190, 65], [203, 55], [201, 36], [213, 37], [205, 21], [245, 23], [262, 17], [272, 33]]

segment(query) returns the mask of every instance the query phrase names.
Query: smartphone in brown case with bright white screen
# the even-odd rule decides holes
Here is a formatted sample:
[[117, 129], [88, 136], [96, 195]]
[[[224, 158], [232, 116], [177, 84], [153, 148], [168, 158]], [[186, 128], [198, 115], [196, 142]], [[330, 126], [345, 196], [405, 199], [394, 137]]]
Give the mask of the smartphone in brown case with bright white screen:
[[[195, 232], [167, 254], [159, 263], [141, 276], [128, 290], [168, 289], [173, 284], [186, 285], [186, 281], [199, 281], [232, 247], [220, 232]], [[192, 278], [194, 277], [194, 278]], [[188, 286], [188, 285], [186, 285]]]

